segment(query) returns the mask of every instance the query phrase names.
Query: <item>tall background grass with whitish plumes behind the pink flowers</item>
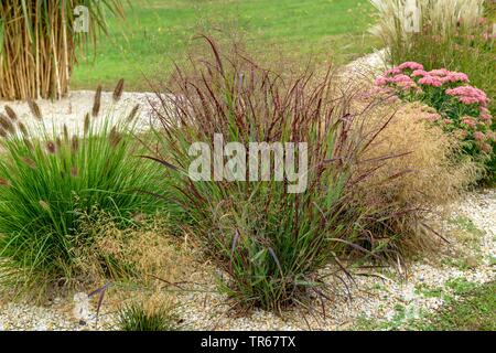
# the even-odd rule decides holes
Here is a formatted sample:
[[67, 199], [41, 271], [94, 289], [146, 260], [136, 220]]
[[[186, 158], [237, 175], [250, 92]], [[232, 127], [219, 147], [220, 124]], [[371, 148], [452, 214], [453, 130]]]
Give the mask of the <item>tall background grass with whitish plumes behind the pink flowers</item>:
[[[484, 0], [418, 1], [419, 33], [403, 30], [406, 1], [371, 0], [378, 10], [373, 33], [387, 47], [392, 65], [421, 63], [425, 71], [445, 67], [471, 77], [471, 84], [495, 97], [494, 33], [496, 4]], [[489, 109], [494, 113], [495, 100]]]

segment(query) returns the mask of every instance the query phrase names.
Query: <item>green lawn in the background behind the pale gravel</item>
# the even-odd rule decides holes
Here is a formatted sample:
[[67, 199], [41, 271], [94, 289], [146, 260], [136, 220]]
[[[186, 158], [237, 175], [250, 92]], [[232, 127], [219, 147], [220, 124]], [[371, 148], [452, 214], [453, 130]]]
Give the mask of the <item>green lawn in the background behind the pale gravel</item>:
[[344, 63], [371, 51], [368, 0], [131, 0], [127, 20], [109, 18], [109, 36], [75, 67], [72, 88], [147, 89], [147, 77], [166, 74], [192, 38], [215, 33], [242, 38], [256, 55], [283, 52], [317, 63]]

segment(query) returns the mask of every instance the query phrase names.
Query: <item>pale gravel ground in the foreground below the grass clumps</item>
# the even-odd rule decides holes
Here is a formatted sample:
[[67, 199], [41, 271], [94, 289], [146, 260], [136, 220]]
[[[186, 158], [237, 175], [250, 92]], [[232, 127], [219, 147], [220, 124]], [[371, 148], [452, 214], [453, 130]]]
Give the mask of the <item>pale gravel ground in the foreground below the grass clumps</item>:
[[[357, 270], [354, 282], [348, 282], [351, 299], [336, 296], [325, 302], [325, 317], [312, 315], [306, 310], [290, 310], [283, 317], [259, 310], [249, 315], [231, 311], [229, 300], [216, 292], [215, 269], [205, 264], [195, 264], [183, 289], [169, 289], [180, 298], [180, 317], [185, 329], [401, 329], [411, 320], [434, 313], [465, 290], [496, 279], [495, 190], [471, 193], [453, 204], [440, 226], [450, 244], [441, 245], [435, 256], [413, 261], [406, 274], [392, 268]], [[0, 330], [117, 329], [112, 323], [116, 308], [105, 302], [99, 323], [94, 311], [91, 319], [80, 324], [72, 313], [74, 302], [68, 299], [57, 298], [46, 307], [6, 300], [0, 307]], [[322, 310], [320, 306], [314, 309]]]

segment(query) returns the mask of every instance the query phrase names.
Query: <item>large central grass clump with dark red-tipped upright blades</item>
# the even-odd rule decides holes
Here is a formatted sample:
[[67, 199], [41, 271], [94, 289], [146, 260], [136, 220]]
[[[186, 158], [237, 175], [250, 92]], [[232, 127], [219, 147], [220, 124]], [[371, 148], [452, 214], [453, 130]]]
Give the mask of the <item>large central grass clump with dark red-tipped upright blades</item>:
[[[280, 75], [236, 47], [224, 53], [211, 39], [207, 44], [209, 55], [193, 60], [191, 71], [177, 67], [169, 88], [158, 93], [160, 145], [150, 146], [148, 158], [164, 165], [174, 184], [166, 202], [181, 206], [187, 234], [222, 270], [220, 289], [236, 303], [280, 311], [323, 300], [331, 288], [320, 269], [334, 264], [334, 276], [343, 278], [353, 266], [352, 253], [359, 260], [375, 256], [360, 245], [368, 234], [356, 227], [364, 213], [353, 201], [358, 183], [375, 173], [357, 165], [389, 121], [360, 129], [378, 103], [353, 108], [358, 94], [337, 86], [331, 71]], [[258, 158], [251, 142], [306, 143], [306, 163], [302, 150], [294, 157], [294, 172], [304, 172], [306, 188], [290, 192], [294, 180], [288, 170], [280, 180], [250, 179], [248, 169], [230, 180], [215, 179], [211, 164], [204, 167], [206, 179], [192, 180], [190, 167], [198, 154], [190, 148], [204, 142], [213, 151], [218, 135], [225, 143], [245, 146], [246, 160]], [[231, 157], [217, 162], [227, 165]]]

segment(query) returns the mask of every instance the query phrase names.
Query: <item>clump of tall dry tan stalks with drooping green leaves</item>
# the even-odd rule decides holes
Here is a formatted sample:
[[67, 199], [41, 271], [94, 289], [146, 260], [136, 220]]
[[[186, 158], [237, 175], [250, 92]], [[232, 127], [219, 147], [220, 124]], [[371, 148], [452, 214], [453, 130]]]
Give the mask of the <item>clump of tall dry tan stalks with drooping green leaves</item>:
[[[74, 31], [77, 6], [88, 8], [89, 33]], [[0, 98], [66, 95], [76, 46], [106, 29], [104, 8], [122, 14], [117, 0], [0, 0]]]

